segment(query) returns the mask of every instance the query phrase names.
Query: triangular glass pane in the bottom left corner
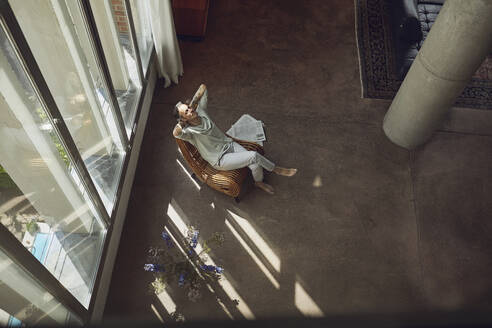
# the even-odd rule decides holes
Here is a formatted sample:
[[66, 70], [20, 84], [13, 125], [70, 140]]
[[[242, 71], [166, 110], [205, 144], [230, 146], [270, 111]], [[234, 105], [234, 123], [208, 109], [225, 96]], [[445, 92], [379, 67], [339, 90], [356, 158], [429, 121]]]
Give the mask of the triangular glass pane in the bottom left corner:
[[0, 325], [81, 325], [53, 295], [0, 250]]

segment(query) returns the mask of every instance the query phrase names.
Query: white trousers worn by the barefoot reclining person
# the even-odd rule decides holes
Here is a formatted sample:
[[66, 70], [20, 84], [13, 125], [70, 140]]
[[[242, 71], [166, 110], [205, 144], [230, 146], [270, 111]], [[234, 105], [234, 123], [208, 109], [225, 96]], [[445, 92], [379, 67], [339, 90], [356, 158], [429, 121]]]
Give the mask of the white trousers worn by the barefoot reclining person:
[[256, 151], [249, 151], [237, 142], [233, 143], [234, 152], [225, 153], [219, 163], [214, 166], [221, 171], [229, 171], [249, 167], [255, 181], [263, 181], [263, 169], [273, 171], [275, 164]]

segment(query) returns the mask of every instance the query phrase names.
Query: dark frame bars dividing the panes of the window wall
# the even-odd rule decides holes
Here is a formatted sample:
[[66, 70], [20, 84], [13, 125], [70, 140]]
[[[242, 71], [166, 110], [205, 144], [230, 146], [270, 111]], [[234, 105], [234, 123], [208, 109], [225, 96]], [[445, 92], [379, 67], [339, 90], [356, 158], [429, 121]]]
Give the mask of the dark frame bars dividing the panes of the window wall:
[[[105, 0], [104, 0], [105, 1]], [[118, 187], [116, 190], [115, 203], [111, 213], [106, 211], [104, 203], [97, 192], [93, 180], [91, 179], [89, 172], [81, 158], [80, 153], [77, 150], [75, 142], [70, 135], [70, 132], [63, 120], [61, 113], [55, 103], [55, 100], [46, 84], [46, 81], [41, 74], [38, 64], [36, 63], [34, 56], [27, 44], [27, 41], [23, 35], [23, 32], [17, 22], [17, 19], [10, 7], [8, 0], [0, 0], [0, 28], [4, 28], [5, 33], [10, 39], [12, 45], [15, 48], [17, 56], [21, 61], [21, 64], [29, 77], [31, 84], [37, 93], [39, 101], [46, 110], [49, 122], [52, 124], [55, 133], [59, 136], [67, 155], [72, 163], [73, 168], [77, 171], [78, 176], [81, 178], [81, 183], [84, 189], [87, 191], [92, 204], [96, 208], [96, 211], [102, 218], [102, 225], [106, 229], [106, 238], [100, 254], [99, 267], [94, 279], [94, 285], [92, 287], [91, 300], [89, 307], [86, 309], [49, 271], [43, 264], [41, 264], [32, 254], [26, 249], [14, 235], [3, 225], [0, 224], [0, 249], [2, 249], [12, 261], [22, 267], [28, 272], [32, 278], [40, 283], [46, 290], [51, 293], [60, 303], [62, 303], [67, 309], [69, 309], [74, 315], [82, 320], [84, 324], [90, 322], [91, 315], [94, 311], [96, 295], [95, 291], [98, 290], [103, 266], [108, 255], [108, 246], [111, 240], [113, 232], [113, 223], [117, 215], [117, 209], [120, 204], [123, 185], [125, 182], [125, 176], [127, 174], [131, 154], [132, 145], [135, 141], [136, 127], [140, 121], [140, 114], [144, 104], [144, 98], [146, 95], [147, 87], [149, 85], [149, 78], [151, 75], [150, 66], [155, 61], [155, 46], [152, 46], [150, 60], [148, 67], [142, 68], [142, 61], [140, 58], [140, 51], [135, 35], [135, 26], [133, 22], [133, 16], [131, 12], [131, 6], [129, 0], [124, 0], [126, 12], [128, 16], [129, 32], [131, 34], [132, 45], [135, 49], [136, 62], [138, 67], [138, 74], [142, 81], [142, 88], [137, 99], [137, 108], [133, 118], [133, 126], [130, 136], [127, 135], [125, 124], [123, 121], [122, 113], [120, 111], [114, 86], [109, 75], [109, 68], [103, 53], [101, 40], [97, 33], [94, 16], [90, 8], [89, 1], [77, 0], [79, 8], [86, 22], [86, 28], [91, 39], [92, 50], [96, 56], [96, 61], [99, 65], [99, 70], [102, 74], [103, 83], [105, 83], [107, 90], [109, 91], [109, 105], [112, 114], [116, 118], [118, 134], [120, 135], [124, 149], [126, 150], [126, 156], [122, 165], [122, 169], [119, 176]]]

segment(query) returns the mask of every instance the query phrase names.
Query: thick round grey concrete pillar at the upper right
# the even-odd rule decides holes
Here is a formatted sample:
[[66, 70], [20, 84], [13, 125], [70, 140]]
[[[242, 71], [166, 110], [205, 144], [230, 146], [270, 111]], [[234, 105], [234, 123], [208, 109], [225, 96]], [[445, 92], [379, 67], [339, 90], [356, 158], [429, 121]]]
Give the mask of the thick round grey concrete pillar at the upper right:
[[426, 142], [492, 51], [492, 1], [447, 0], [383, 122], [395, 144]]

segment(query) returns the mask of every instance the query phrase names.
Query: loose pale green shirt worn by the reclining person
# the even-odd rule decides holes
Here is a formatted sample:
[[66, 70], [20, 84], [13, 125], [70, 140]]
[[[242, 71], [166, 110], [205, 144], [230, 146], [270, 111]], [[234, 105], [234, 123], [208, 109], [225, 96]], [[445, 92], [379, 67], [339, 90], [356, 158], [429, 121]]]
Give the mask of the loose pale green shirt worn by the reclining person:
[[217, 165], [220, 158], [232, 146], [232, 139], [227, 137], [208, 116], [208, 90], [200, 98], [197, 113], [200, 117], [199, 125], [188, 125], [176, 137], [188, 141], [198, 149], [204, 160], [210, 165]]

